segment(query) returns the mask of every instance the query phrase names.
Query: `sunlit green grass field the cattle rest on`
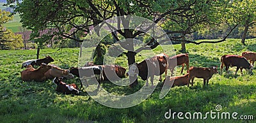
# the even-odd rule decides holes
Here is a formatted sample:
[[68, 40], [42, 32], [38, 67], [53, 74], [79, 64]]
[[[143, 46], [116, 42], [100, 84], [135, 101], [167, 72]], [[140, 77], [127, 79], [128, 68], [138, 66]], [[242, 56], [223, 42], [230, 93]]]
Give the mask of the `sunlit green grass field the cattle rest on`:
[[[241, 55], [246, 50], [256, 52], [256, 39], [246, 40], [246, 44], [241, 45], [240, 40], [234, 39], [217, 44], [186, 44], [190, 66], [220, 66], [221, 55]], [[163, 46], [164, 49], [169, 47]], [[173, 47], [179, 54], [180, 45]], [[157, 47], [154, 51], [158, 54], [159, 49]], [[40, 57], [45, 55], [51, 55], [54, 59], [52, 64], [67, 69], [77, 66], [79, 48], [42, 49]], [[91, 55], [88, 54], [88, 57]], [[163, 83], [160, 82], [150, 98], [143, 103], [131, 108], [115, 109], [100, 105], [88, 96], [86, 90], [82, 90], [79, 96], [63, 95], [56, 92], [56, 85], [51, 80], [23, 82], [20, 78], [20, 71], [23, 70], [20, 68], [21, 63], [35, 58], [36, 50], [0, 51], [0, 122], [256, 122], [256, 78], [255, 74], [250, 75], [245, 70], [243, 75], [240, 72], [234, 75], [235, 68], [230, 69], [230, 73], [224, 71], [213, 75], [205, 87], [202, 86], [202, 79], [195, 78], [193, 87], [173, 87], [163, 99], [159, 99]], [[127, 67], [125, 59], [125, 56], [121, 57], [116, 64]], [[141, 60], [138, 58], [138, 61]], [[179, 72], [180, 67], [177, 67], [177, 75], [181, 75]], [[79, 78], [65, 82], [79, 85]], [[113, 94], [132, 94], [144, 83], [139, 79], [139, 85], [134, 88], [118, 87], [109, 82], [104, 82], [102, 86]], [[178, 112], [202, 112], [203, 115], [211, 110], [217, 112], [216, 105], [222, 106], [219, 113], [237, 112], [237, 117], [254, 117], [252, 120], [234, 120], [231, 116], [230, 119], [211, 119], [209, 115], [207, 119], [177, 118]], [[177, 112], [175, 119], [164, 118], [170, 109]]]

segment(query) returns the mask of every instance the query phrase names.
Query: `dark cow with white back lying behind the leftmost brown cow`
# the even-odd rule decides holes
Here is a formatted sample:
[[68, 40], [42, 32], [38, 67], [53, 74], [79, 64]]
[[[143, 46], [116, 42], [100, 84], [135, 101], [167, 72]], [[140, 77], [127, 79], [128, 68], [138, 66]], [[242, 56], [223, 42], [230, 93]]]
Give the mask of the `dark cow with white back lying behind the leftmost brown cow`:
[[22, 68], [26, 68], [27, 66], [31, 65], [31, 66], [40, 66], [42, 63], [45, 64], [49, 64], [49, 62], [53, 62], [54, 60], [52, 59], [52, 57], [45, 56], [45, 58], [43, 59], [32, 59], [32, 60], [28, 60], [22, 63]]

